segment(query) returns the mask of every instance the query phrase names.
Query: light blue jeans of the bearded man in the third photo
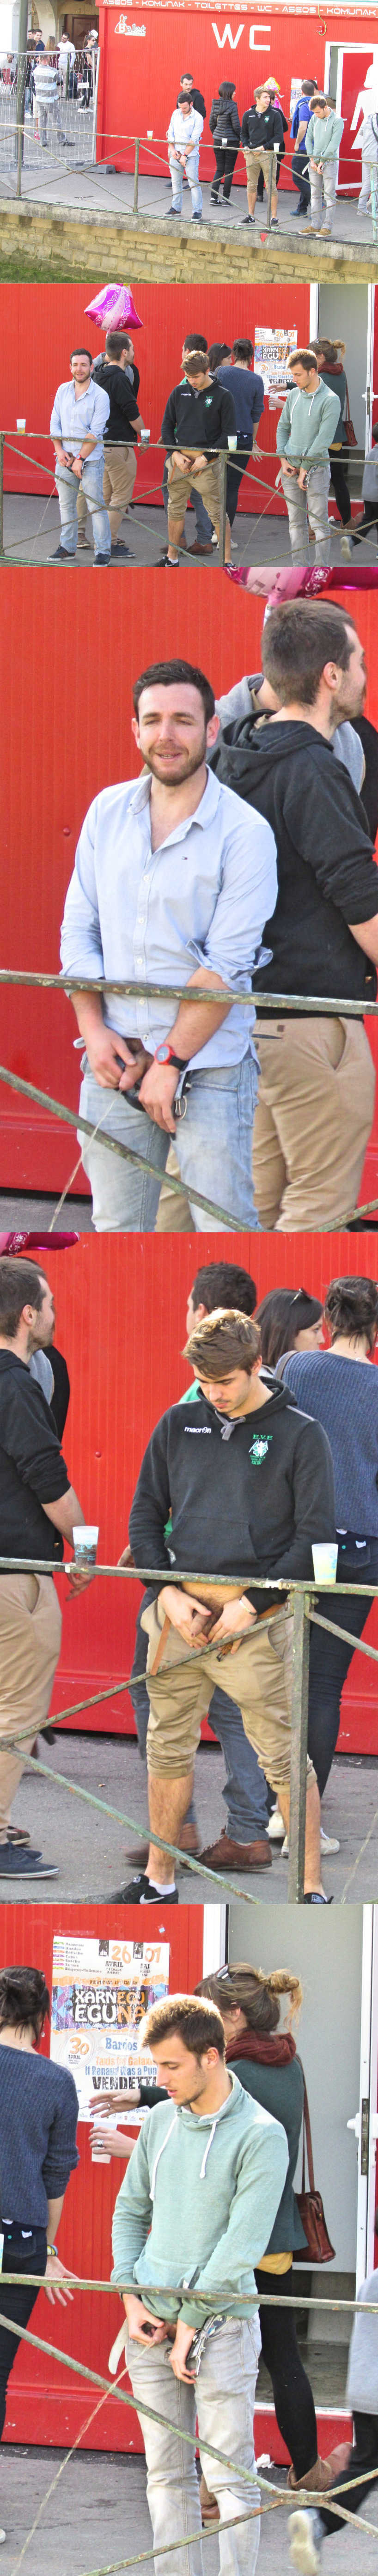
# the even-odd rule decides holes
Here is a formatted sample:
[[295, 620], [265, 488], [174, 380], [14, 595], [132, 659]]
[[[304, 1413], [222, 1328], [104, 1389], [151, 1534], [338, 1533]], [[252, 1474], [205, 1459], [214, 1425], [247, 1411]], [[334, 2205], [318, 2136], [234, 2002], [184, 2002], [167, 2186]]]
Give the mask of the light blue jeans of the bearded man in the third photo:
[[[226, 1216], [208, 1216], [190, 1200], [195, 1234], [219, 1234], [219, 1226], [257, 1226], [252, 1188], [252, 1123], [257, 1108], [257, 1061], [213, 1066], [185, 1077], [185, 1115], [175, 1118], [175, 1151], [180, 1180], [188, 1190], [203, 1190]], [[121, 1162], [108, 1154], [100, 1136], [82, 1136], [82, 1170], [93, 1190], [95, 1234], [154, 1234], [159, 1206], [159, 1180], [167, 1164], [170, 1136], [154, 1126], [144, 1110], [131, 1108], [126, 1092], [103, 1090], [82, 1061], [80, 1090], [82, 1118], [103, 1126], [108, 1136], [129, 1146], [139, 1162]], [[154, 1172], [144, 1172], [144, 1162]]]

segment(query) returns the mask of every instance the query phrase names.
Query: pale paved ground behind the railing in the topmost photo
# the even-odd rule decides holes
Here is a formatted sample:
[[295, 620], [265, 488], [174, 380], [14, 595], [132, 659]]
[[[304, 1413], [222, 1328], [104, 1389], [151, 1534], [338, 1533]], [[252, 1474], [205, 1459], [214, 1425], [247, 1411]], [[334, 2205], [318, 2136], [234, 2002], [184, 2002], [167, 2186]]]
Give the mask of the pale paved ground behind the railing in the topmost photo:
[[[134, 211], [134, 173], [116, 170], [111, 162], [113, 162], [111, 149], [108, 149], [108, 162], [95, 162], [95, 165], [87, 162], [85, 167], [80, 167], [80, 157], [72, 165], [72, 152], [69, 149], [67, 149], [67, 155], [62, 160], [51, 160], [49, 149], [41, 152], [36, 147], [33, 137], [26, 137], [26, 160], [23, 160], [23, 183], [21, 183], [23, 204], [33, 201], [33, 206], [44, 206], [44, 211], [46, 211], [46, 206], [51, 206], [51, 209], [64, 206], [64, 211], [69, 206], [75, 206], [75, 209], [85, 209], [85, 211], [95, 211], [95, 214], [100, 214], [100, 211], [103, 214], [116, 214], [116, 216], [131, 214]], [[157, 147], [157, 178], [144, 178], [144, 175], [139, 178], [139, 214], [149, 216], [157, 224], [162, 224], [167, 219], [167, 209], [172, 204], [170, 180], [167, 180], [167, 160], [165, 160], [162, 167], [159, 167], [159, 162], [162, 162], [162, 155], [159, 155], [159, 147]], [[357, 183], [360, 183], [360, 170], [357, 170]], [[3, 198], [13, 198], [15, 196], [15, 165], [10, 162], [10, 155], [8, 155], [5, 142], [3, 142], [3, 134], [0, 134], [0, 196]], [[296, 206], [298, 206], [296, 188], [280, 188], [280, 193], [278, 193], [278, 232], [280, 234], [285, 232], [288, 240], [293, 240], [293, 234], [296, 234], [296, 242], [301, 242], [303, 258], [306, 258], [306, 250], [314, 242], [314, 234], [309, 229], [309, 216], [296, 216]], [[211, 227], [221, 224], [221, 232], [234, 232], [244, 222], [244, 216], [247, 216], [247, 191], [244, 191], [244, 185], [237, 183], [231, 188], [229, 211], [226, 211], [224, 204], [211, 206], [211, 180], [203, 183], [203, 219], [206, 219], [206, 224], [211, 224]], [[170, 219], [170, 222], [175, 222], [175, 219]], [[185, 227], [190, 222], [190, 191], [188, 188], [183, 191], [183, 222], [185, 222]], [[260, 245], [260, 234], [265, 234], [265, 227], [267, 227], [267, 198], [255, 211], [255, 234], [249, 232], [249, 245], [252, 247]], [[273, 242], [278, 242], [278, 232], [273, 229]], [[339, 242], [347, 242], [347, 245], [360, 247], [360, 250], [368, 242], [373, 242], [373, 216], [370, 214], [357, 214], [357, 193], [350, 196], [350, 198], [337, 198], [332, 242], [337, 247], [339, 247]], [[329, 237], [327, 237], [327, 247], [332, 247]]]

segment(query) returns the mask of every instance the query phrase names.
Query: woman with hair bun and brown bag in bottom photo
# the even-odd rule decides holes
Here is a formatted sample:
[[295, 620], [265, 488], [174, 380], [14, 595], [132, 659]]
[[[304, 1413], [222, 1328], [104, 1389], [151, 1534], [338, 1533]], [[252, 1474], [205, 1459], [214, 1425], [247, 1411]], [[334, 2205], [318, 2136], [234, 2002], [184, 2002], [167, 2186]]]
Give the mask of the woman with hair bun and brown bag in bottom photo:
[[[273, 2120], [280, 2120], [288, 2138], [288, 2174], [275, 2215], [273, 2236], [255, 2280], [257, 2290], [275, 2290], [288, 2298], [293, 2287], [293, 2251], [309, 2262], [309, 2246], [298, 2218], [293, 2174], [303, 2120], [303, 2069], [296, 2056], [291, 2027], [280, 2025], [280, 1996], [291, 1996], [291, 2014], [301, 2012], [301, 1984], [291, 1968], [247, 1968], [244, 1963], [203, 1976], [195, 1994], [206, 1994], [219, 2007], [226, 2032], [226, 2066], [239, 2076]], [[285, 2450], [291, 2452], [288, 2486], [309, 2486], [316, 2494], [332, 2486], [332, 2468], [319, 2460], [316, 2411], [311, 2385], [301, 2362], [296, 2318], [291, 2308], [260, 2308], [262, 2360], [273, 2380], [275, 2416]], [[213, 2499], [203, 2519], [213, 2517]]]

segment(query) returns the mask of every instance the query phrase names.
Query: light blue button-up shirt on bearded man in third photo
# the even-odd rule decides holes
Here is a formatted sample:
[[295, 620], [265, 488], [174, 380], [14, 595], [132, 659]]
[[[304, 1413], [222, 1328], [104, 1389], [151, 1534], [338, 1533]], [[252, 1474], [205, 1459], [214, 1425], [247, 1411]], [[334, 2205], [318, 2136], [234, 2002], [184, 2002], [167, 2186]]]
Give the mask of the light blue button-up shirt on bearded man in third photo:
[[[234, 992], [252, 992], [265, 963], [262, 925], [278, 902], [275, 837], [252, 806], [208, 770], [195, 814], [152, 850], [149, 775], [103, 788], [85, 814], [62, 922], [64, 976], [185, 984], [208, 966]], [[154, 1054], [175, 1002], [105, 994], [105, 1020]], [[229, 1010], [195, 1066], [252, 1054], [255, 1007]]]

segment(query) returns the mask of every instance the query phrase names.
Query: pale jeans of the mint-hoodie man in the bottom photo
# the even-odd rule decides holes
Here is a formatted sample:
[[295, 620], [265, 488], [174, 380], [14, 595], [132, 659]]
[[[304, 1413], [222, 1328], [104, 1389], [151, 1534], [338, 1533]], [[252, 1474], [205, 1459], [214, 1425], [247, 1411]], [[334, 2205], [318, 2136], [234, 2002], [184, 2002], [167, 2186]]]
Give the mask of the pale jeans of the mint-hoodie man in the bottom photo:
[[[126, 2344], [126, 2365], [147, 2450], [147, 2501], [154, 2535], [154, 2576], [167, 2576], [167, 2558], [159, 2553], [175, 2543], [175, 2576], [203, 2576], [201, 2548], [201, 2491], [195, 2476], [195, 2416], [201, 2468], [211, 2494], [219, 2499], [221, 2522], [231, 2514], [249, 2514], [239, 2530], [221, 2535], [221, 2576], [255, 2576], [260, 2548], [260, 2488], [255, 2478], [255, 2385], [260, 2362], [260, 2318], [242, 2324], [229, 2316], [206, 2344], [195, 2385], [175, 2380], [170, 2370], [172, 2344]], [[144, 2406], [165, 2414], [167, 2429], [152, 2424]], [[170, 2429], [172, 2427], [172, 2429]], [[190, 2442], [183, 2434], [193, 2434]], [[206, 2439], [234, 2465], [226, 2468], [206, 2450]], [[249, 2476], [244, 2478], [242, 2470]], [[198, 2537], [188, 2548], [188, 2537]], [[206, 2550], [208, 2558], [208, 2550]]]

